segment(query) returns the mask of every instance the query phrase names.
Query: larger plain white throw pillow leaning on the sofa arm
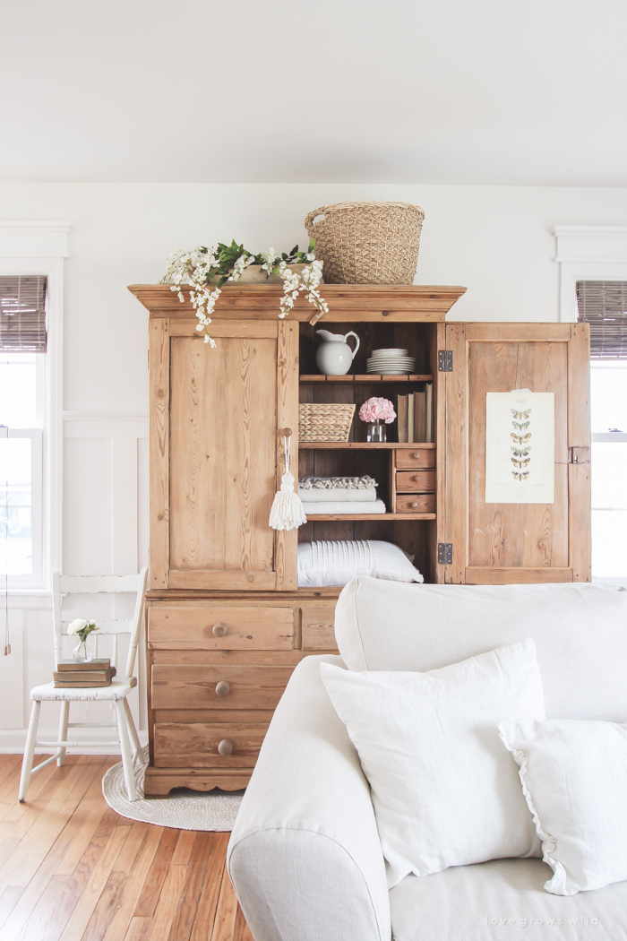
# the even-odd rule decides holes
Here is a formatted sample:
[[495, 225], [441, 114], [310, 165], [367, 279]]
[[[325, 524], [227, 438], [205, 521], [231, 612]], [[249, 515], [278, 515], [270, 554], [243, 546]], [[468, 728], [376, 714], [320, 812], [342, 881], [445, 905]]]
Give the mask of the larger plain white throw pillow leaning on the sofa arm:
[[505, 718], [544, 718], [532, 640], [429, 673], [321, 663], [372, 791], [388, 886], [505, 856], [539, 856]]

